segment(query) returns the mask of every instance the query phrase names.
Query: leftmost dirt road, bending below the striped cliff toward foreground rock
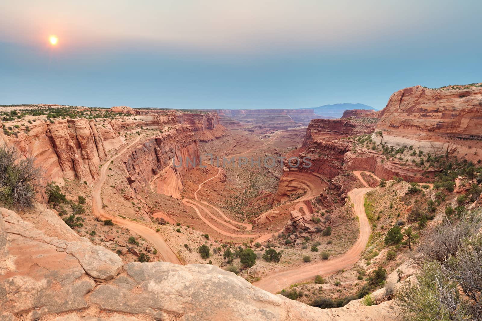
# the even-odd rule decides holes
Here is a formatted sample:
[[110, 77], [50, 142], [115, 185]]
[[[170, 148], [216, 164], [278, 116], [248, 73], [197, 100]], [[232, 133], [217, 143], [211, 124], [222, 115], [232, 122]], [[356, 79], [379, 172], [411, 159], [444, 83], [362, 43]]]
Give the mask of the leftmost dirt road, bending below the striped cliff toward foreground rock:
[[134, 233], [139, 234], [140, 236], [142, 236], [143, 238], [145, 238], [147, 241], [151, 242], [154, 245], [158, 253], [161, 254], [161, 259], [163, 261], [171, 262], [174, 264], [182, 264], [182, 262], [179, 260], [177, 255], [171, 249], [171, 247], [162, 238], [161, 234], [157, 233], [154, 229], [146, 225], [143, 225], [141, 223], [136, 223], [127, 219], [120, 218], [118, 216], [107, 214], [104, 211], [104, 209], [102, 209], [101, 190], [102, 190], [102, 185], [106, 180], [106, 171], [107, 171], [107, 168], [109, 167], [110, 162], [118, 158], [120, 155], [122, 155], [129, 147], [136, 144], [143, 136], [144, 135], [140, 135], [139, 137], [137, 137], [137, 139], [134, 140], [134, 142], [129, 144], [127, 147], [121, 150], [116, 156], [112, 157], [102, 166], [100, 170], [99, 179], [95, 183], [94, 189], [92, 190], [92, 214], [101, 216], [104, 219], [111, 219], [112, 222], [114, 222], [115, 224], [120, 225], [122, 227], [127, 227]]

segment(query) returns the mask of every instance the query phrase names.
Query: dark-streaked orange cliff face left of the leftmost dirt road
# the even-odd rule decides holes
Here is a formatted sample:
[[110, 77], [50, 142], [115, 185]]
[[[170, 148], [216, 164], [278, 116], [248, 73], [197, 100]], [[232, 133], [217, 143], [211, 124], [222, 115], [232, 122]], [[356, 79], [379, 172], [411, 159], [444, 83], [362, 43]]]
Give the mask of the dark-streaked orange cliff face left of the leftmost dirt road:
[[23, 156], [36, 159], [46, 170], [47, 181], [61, 185], [64, 178], [93, 182], [107, 152], [124, 143], [108, 121], [87, 119], [38, 121], [9, 141]]

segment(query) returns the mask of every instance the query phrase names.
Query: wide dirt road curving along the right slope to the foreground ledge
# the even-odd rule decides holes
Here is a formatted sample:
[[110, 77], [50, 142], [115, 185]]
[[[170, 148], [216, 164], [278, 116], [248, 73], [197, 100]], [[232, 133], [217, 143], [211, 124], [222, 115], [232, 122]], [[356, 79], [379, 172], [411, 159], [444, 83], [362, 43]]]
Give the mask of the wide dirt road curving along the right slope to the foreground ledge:
[[[364, 186], [368, 186], [360, 175], [360, 171], [357, 171], [355, 175], [358, 177], [358, 179], [360, 179]], [[375, 176], [375, 178], [378, 177]], [[355, 205], [355, 214], [360, 219], [360, 235], [358, 240], [355, 242], [355, 244], [353, 244], [348, 252], [331, 260], [321, 261], [313, 264], [303, 265], [294, 269], [286, 269], [268, 274], [260, 281], [254, 282], [253, 285], [271, 293], [277, 293], [293, 283], [306, 281], [314, 278], [318, 274], [328, 275], [341, 269], [348, 269], [352, 267], [360, 258], [360, 255], [362, 254], [368, 242], [368, 237], [370, 236], [370, 223], [366, 218], [365, 208], [363, 206], [364, 196], [370, 190], [372, 190], [370, 187], [353, 188], [348, 193], [351, 202]]]

